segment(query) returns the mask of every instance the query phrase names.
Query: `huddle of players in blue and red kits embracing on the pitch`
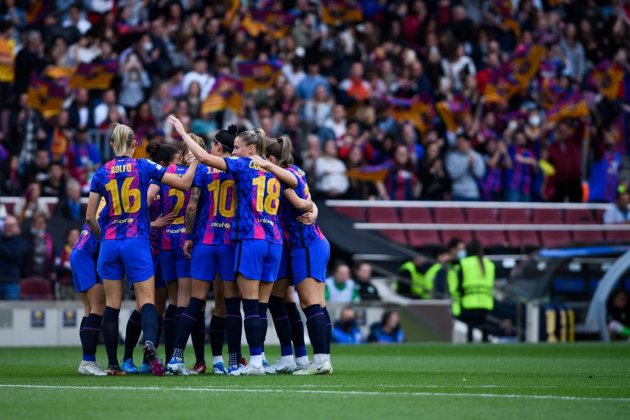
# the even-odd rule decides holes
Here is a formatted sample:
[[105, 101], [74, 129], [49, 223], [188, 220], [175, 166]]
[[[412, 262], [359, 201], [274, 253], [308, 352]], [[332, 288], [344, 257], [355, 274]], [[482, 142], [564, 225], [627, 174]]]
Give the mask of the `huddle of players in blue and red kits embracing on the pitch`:
[[[208, 153], [204, 139], [186, 133], [176, 117], [169, 121], [184, 147], [152, 143], [151, 160], [134, 159], [134, 132], [119, 124], [111, 137], [116, 157], [92, 179], [87, 223], [71, 254], [73, 281], [84, 302], [79, 373], [204, 373], [211, 286], [215, 374], [331, 373], [332, 325], [324, 299], [330, 246], [315, 222], [317, 207], [305, 174], [293, 165], [291, 141], [230, 126], [214, 136]], [[118, 318], [125, 277], [136, 309], [127, 323], [121, 366]], [[311, 361], [294, 291], [306, 317]], [[264, 354], [268, 310], [281, 349], [272, 365]], [[243, 326], [249, 363], [241, 355]], [[106, 370], [95, 358], [101, 331]], [[133, 350], [140, 334], [144, 358], [138, 368]], [[189, 338], [196, 358], [192, 369], [184, 365]], [[160, 341], [166, 366], [156, 350]]]

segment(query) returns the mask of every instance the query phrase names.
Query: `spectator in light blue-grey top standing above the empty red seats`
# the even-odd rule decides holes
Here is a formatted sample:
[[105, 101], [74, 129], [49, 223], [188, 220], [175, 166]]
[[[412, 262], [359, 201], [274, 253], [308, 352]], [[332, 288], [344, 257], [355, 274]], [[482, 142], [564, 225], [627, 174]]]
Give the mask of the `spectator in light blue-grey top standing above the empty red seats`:
[[479, 200], [478, 182], [485, 173], [485, 165], [465, 134], [457, 136], [457, 147], [446, 156], [446, 170], [453, 181], [453, 200]]

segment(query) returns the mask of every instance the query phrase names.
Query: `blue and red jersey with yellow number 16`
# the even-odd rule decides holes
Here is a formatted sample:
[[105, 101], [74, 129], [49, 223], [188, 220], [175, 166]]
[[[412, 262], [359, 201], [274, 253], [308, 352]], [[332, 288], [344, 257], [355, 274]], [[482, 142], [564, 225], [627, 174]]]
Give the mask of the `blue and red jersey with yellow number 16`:
[[151, 180], [162, 180], [164, 173], [155, 162], [130, 157], [110, 160], [96, 171], [90, 191], [107, 200], [104, 241], [149, 238], [147, 190]]

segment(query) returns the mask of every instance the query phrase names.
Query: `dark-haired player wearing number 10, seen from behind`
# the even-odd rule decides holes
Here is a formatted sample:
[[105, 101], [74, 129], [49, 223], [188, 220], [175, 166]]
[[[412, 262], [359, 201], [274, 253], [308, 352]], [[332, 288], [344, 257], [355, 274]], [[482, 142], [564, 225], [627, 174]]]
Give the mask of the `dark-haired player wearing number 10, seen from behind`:
[[[236, 126], [219, 131], [214, 137], [210, 153], [213, 156], [229, 158], [237, 134]], [[227, 370], [222, 357], [226, 323], [230, 324], [227, 335], [231, 365], [239, 364], [243, 328], [240, 310], [238, 316], [231, 316], [226, 320], [223, 292], [224, 287], [229, 289], [225, 294], [235, 296], [230, 298], [232, 299], [230, 303], [235, 301], [237, 308], [240, 307], [238, 286], [234, 281], [234, 245], [230, 239], [230, 228], [233, 226], [236, 207], [234, 178], [229, 173], [215, 168], [200, 167], [206, 170], [197, 171], [186, 210], [187, 233], [184, 253], [192, 258], [192, 297], [180, 320], [174, 356], [167, 368], [173, 373], [186, 374], [184, 349], [188, 336], [195, 330], [194, 319], [203, 316], [203, 307], [212, 282], [215, 294], [214, 312], [210, 320], [212, 368], [214, 374], [226, 375]], [[199, 212], [197, 208], [200, 209]]]

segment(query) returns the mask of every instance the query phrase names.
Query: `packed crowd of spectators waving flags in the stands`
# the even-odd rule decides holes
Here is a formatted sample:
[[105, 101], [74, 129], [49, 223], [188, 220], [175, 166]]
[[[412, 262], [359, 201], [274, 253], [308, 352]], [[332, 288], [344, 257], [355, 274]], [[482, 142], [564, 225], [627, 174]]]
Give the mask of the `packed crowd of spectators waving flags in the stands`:
[[[80, 223], [113, 126], [177, 142], [170, 113], [206, 137], [230, 123], [288, 135], [322, 197], [615, 200], [630, 150], [624, 2], [330, 3], [2, 2], [0, 195], [24, 197], [12, 213], [37, 245], [21, 266], [66, 275], [62, 252], [50, 268], [39, 197]], [[248, 87], [243, 63], [265, 63], [267, 80]], [[238, 105], [217, 108], [225, 81]], [[0, 243], [20, 242], [3, 217]]]

